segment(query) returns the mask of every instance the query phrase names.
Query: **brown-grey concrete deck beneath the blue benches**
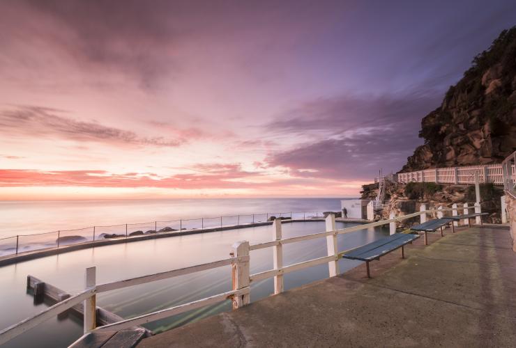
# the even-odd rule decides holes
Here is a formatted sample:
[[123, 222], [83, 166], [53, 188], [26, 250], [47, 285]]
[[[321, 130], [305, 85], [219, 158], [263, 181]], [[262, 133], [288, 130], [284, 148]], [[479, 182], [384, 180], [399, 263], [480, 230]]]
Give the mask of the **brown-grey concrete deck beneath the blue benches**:
[[[506, 226], [449, 229], [345, 274], [160, 333], [138, 347], [514, 347]], [[252, 293], [251, 293], [252, 296]]]

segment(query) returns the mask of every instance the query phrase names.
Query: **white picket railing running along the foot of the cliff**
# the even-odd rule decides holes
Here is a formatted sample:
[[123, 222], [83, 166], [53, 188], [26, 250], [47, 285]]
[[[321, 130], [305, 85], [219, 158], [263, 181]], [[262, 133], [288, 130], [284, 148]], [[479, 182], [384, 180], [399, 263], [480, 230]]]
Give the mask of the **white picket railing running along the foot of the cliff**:
[[[510, 169], [515, 173], [514, 166]], [[399, 173], [397, 181], [406, 182], [436, 182], [438, 184], [474, 184], [475, 173], [480, 182], [503, 184], [503, 168], [501, 164], [485, 164], [481, 166], [461, 166], [450, 168], [432, 168], [424, 171]]]

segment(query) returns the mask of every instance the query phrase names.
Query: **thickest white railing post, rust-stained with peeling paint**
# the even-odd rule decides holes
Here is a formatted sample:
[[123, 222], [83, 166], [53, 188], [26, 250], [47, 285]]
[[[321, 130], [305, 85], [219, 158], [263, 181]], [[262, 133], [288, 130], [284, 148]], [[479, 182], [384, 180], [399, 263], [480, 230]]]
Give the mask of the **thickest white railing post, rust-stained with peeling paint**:
[[[236, 242], [233, 244], [233, 255], [236, 258], [249, 257], [249, 242]], [[243, 289], [249, 286], [249, 260], [238, 261], [232, 264], [233, 290]], [[233, 309], [247, 306], [250, 302], [250, 294], [233, 297]]]

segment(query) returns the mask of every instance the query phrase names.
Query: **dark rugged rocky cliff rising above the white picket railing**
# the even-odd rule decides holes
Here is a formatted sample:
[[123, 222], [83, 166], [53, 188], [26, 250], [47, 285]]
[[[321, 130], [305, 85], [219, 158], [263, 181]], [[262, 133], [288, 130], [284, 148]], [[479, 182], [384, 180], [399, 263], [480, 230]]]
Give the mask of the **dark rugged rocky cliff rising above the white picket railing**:
[[516, 149], [516, 26], [451, 86], [437, 109], [423, 118], [419, 146], [402, 172], [499, 163]]

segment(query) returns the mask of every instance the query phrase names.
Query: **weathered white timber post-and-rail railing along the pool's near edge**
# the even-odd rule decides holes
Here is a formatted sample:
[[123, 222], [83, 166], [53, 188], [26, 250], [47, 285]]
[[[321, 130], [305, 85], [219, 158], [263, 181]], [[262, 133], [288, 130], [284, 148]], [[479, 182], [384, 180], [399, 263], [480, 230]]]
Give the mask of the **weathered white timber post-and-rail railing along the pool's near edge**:
[[[476, 209], [478, 209], [478, 212], [480, 212], [480, 205], [478, 205], [478, 207], [475, 207]], [[22, 322], [14, 324], [13, 326], [10, 326], [7, 329], [4, 329], [3, 331], [0, 331], [0, 345], [2, 345], [5, 342], [8, 342], [9, 340], [12, 340], [17, 335], [20, 335], [25, 331], [32, 329], [33, 327], [44, 322], [45, 320], [50, 319], [51, 317], [55, 317], [56, 315], [59, 315], [59, 313], [62, 313], [63, 311], [68, 310], [69, 308], [81, 302], [84, 303], [83, 306], [85, 335], [91, 332], [120, 331], [123, 329], [128, 329], [132, 326], [146, 324], [158, 319], [171, 317], [173, 315], [184, 313], [188, 310], [201, 308], [204, 306], [211, 305], [213, 303], [225, 301], [227, 299], [232, 300], [233, 309], [238, 309], [250, 303], [250, 284], [253, 282], [273, 277], [274, 294], [280, 294], [284, 291], [284, 274], [288, 274], [290, 272], [298, 271], [308, 267], [317, 266], [318, 264], [326, 263], [328, 264], [328, 272], [330, 277], [337, 276], [337, 274], [340, 274], [338, 260], [342, 256], [342, 254], [347, 253], [351, 249], [347, 251], [338, 251], [337, 235], [344, 235], [347, 233], [356, 232], [358, 230], [365, 230], [367, 228], [384, 226], [386, 224], [390, 224], [390, 232], [392, 234], [393, 232], [395, 232], [397, 222], [411, 219], [416, 216], [420, 216], [420, 222], [423, 223], [427, 219], [427, 214], [432, 214], [433, 216], [438, 214], [439, 216], [442, 216], [443, 212], [453, 211], [453, 214], [455, 215], [457, 209], [465, 209], [465, 211], [467, 212], [467, 204], [464, 205], [464, 207], [439, 207], [439, 209], [433, 208], [428, 210], [426, 209], [425, 205], [422, 205], [420, 211], [415, 212], [413, 214], [407, 214], [403, 216], [391, 215], [391, 218], [388, 220], [382, 220], [373, 223], [366, 223], [363, 225], [340, 229], [335, 228], [335, 214], [328, 214], [328, 216], [326, 217], [325, 232], [319, 232], [314, 233], [312, 235], [303, 235], [284, 239], [282, 238], [282, 221], [281, 219], [275, 219], [272, 225], [273, 240], [271, 242], [264, 242], [254, 245], [250, 245], [247, 241], [236, 242], [233, 245], [232, 253], [230, 253], [230, 255], [232, 255], [231, 258], [227, 258], [225, 260], [218, 260], [215, 262], [208, 262], [205, 264], [198, 264], [195, 266], [185, 267], [181, 269], [174, 269], [172, 271], [164, 271], [157, 274], [140, 276], [137, 278], [117, 280], [110, 283], [96, 284], [96, 267], [89, 267], [86, 269], [85, 273], [85, 289], [83, 292], [79, 292], [79, 294], [76, 294], [74, 296], [69, 297], [68, 299], [65, 299], [64, 301], [56, 303], [54, 304], [54, 306], [51, 306], [43, 310], [42, 312], [38, 313], [37, 315], [34, 315], [33, 317], [24, 319]], [[477, 221], [477, 223], [480, 223], [480, 221]], [[298, 262], [296, 264], [289, 264], [288, 266], [283, 265], [282, 246], [284, 244], [303, 242], [319, 238], [326, 238], [328, 255], [323, 256], [321, 258], [315, 258], [312, 260]], [[259, 272], [257, 274], [250, 274], [250, 251], [255, 251], [263, 248], [273, 248], [274, 268], [268, 271]], [[232, 290], [229, 292], [215, 294], [213, 296], [208, 296], [204, 299], [199, 299], [197, 301], [192, 301], [189, 303], [183, 303], [179, 306], [165, 308], [153, 313], [132, 317], [130, 319], [124, 319], [119, 322], [114, 322], [112, 324], [107, 324], [98, 327], [96, 326], [96, 295], [99, 293], [122, 289], [124, 287], [151, 283], [157, 280], [183, 276], [185, 274], [192, 274], [199, 271], [206, 271], [208, 269], [215, 269], [227, 265], [232, 266]]]

